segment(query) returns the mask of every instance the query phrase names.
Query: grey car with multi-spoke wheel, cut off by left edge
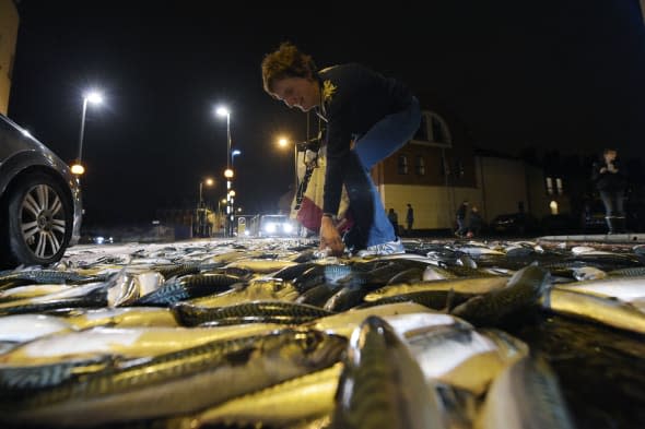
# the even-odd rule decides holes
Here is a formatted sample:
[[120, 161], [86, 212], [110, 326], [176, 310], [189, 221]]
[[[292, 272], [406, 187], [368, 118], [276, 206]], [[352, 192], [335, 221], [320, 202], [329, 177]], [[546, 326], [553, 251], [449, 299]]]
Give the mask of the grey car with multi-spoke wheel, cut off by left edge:
[[0, 114], [0, 265], [49, 265], [79, 242], [79, 179], [44, 143]]

